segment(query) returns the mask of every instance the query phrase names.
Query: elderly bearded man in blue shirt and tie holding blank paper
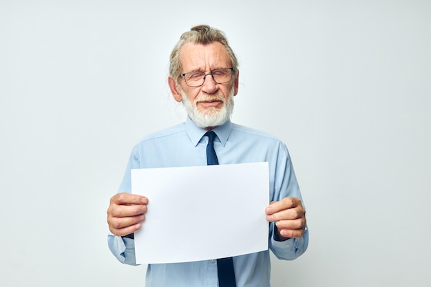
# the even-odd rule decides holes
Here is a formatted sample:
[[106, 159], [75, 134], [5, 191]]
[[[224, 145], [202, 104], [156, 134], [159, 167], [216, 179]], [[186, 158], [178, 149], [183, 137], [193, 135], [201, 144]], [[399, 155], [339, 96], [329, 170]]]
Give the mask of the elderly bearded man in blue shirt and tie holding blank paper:
[[[231, 123], [238, 78], [238, 61], [220, 30], [199, 25], [182, 34], [171, 52], [168, 84], [188, 117], [185, 123], [146, 136], [132, 149], [119, 193], [107, 209], [112, 232], [108, 244], [120, 262], [136, 264], [133, 233], [145, 226], [151, 200], [130, 193], [130, 170], [151, 167], [269, 162], [271, 203], [265, 210], [270, 222], [269, 248], [286, 260], [306, 251], [305, 210], [286, 146], [262, 131]], [[241, 215], [233, 217], [240, 224]], [[270, 286], [269, 251], [200, 262], [149, 264], [146, 286]]]

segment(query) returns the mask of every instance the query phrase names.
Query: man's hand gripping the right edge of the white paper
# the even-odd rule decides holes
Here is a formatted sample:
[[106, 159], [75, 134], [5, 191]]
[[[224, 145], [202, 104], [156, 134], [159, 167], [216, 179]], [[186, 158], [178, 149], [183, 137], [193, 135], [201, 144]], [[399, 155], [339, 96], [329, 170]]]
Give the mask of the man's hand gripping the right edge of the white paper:
[[273, 201], [265, 209], [266, 220], [275, 222], [281, 240], [301, 237], [306, 227], [305, 209], [299, 198]]

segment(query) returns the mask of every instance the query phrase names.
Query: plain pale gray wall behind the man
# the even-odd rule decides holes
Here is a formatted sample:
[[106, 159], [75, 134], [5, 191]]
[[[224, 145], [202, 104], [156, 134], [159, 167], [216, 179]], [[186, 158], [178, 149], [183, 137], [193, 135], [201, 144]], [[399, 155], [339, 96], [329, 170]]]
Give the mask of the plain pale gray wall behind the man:
[[240, 59], [233, 121], [286, 142], [308, 209], [308, 251], [273, 258], [273, 286], [430, 286], [430, 15], [419, 0], [1, 0], [0, 285], [144, 286], [146, 266], [109, 253], [105, 212], [132, 146], [184, 120], [169, 52], [209, 23]]

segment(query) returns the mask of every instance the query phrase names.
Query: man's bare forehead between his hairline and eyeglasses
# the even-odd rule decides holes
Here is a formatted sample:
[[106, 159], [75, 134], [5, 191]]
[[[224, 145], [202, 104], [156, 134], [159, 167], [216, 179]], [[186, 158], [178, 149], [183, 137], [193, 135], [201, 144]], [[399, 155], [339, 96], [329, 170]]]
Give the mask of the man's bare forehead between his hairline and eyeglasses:
[[231, 59], [220, 42], [209, 44], [185, 43], [180, 50], [180, 62], [184, 69], [230, 67]]

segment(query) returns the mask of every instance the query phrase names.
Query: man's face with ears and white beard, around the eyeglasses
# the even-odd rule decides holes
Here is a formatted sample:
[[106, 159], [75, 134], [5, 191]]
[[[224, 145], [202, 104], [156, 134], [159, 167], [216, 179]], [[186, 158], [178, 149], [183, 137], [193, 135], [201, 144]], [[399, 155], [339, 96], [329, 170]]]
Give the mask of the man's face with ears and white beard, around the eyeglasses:
[[[226, 48], [219, 42], [208, 45], [186, 43], [180, 50], [182, 73], [210, 73], [216, 69], [231, 67]], [[174, 85], [169, 78], [169, 87], [174, 98], [184, 103], [187, 114], [199, 127], [215, 127], [225, 123], [233, 110], [233, 96], [238, 93], [238, 76], [228, 83], [215, 83], [211, 75], [206, 76], [200, 87], [189, 87], [185, 79]]]

